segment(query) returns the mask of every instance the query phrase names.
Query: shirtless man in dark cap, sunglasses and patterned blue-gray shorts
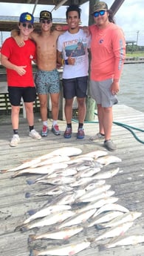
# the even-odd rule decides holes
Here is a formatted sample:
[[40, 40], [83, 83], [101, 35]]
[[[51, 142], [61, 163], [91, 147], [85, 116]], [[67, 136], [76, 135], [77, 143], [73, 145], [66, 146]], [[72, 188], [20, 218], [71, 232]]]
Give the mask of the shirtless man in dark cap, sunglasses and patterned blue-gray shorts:
[[[55, 135], [61, 134], [58, 128], [60, 79], [58, 70], [56, 69], [56, 42], [62, 32], [61, 30], [51, 30], [52, 13], [47, 10], [41, 11], [40, 24], [41, 33], [30, 33], [30, 39], [36, 43], [38, 71], [35, 74], [35, 85], [40, 100], [41, 119], [43, 122], [41, 136], [46, 137], [49, 131], [47, 123], [48, 93], [52, 102], [52, 132]], [[15, 36], [18, 45], [22, 47], [24, 42], [18, 42], [18, 36], [16, 36], [14, 31], [12, 35]]]

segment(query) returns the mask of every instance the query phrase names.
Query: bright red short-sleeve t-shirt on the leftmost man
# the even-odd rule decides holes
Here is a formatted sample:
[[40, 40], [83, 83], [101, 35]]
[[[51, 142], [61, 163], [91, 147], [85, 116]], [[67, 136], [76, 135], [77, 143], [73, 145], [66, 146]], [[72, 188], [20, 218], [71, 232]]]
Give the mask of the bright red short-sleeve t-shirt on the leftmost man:
[[35, 43], [30, 39], [24, 41], [24, 47], [19, 47], [15, 39], [10, 37], [4, 41], [1, 54], [6, 56], [14, 65], [27, 66], [24, 76], [18, 75], [15, 70], [7, 68], [7, 85], [14, 87], [34, 87], [32, 75], [32, 59], [35, 59]]

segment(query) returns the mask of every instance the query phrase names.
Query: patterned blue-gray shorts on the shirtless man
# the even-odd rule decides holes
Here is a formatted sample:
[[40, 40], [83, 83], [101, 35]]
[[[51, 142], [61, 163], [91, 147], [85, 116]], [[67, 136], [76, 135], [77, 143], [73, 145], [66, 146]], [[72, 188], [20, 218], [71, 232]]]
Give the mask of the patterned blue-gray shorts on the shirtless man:
[[35, 86], [38, 94], [59, 93], [60, 79], [58, 70], [38, 70], [35, 73]]

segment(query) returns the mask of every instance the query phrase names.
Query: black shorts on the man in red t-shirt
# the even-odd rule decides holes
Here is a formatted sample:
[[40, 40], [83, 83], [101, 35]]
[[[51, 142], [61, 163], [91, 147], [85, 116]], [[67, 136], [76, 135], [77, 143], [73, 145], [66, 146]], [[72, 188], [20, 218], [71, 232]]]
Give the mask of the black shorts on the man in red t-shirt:
[[21, 98], [24, 102], [34, 102], [36, 98], [35, 87], [13, 87], [8, 86], [10, 104], [13, 106], [21, 105]]

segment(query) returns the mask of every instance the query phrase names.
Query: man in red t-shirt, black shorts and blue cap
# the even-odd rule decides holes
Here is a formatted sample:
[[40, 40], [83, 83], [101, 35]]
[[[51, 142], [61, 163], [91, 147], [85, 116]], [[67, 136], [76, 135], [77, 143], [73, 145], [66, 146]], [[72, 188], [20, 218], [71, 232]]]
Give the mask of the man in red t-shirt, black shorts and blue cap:
[[33, 102], [35, 101], [35, 84], [32, 76], [32, 59], [35, 59], [35, 44], [29, 39], [33, 30], [34, 18], [30, 13], [21, 13], [18, 28], [19, 37], [24, 40], [24, 47], [18, 47], [13, 37], [4, 41], [1, 47], [1, 65], [7, 69], [7, 85], [11, 104], [13, 137], [10, 146], [18, 145], [18, 122], [21, 98], [24, 100], [29, 136], [41, 140], [41, 135], [34, 129]]

